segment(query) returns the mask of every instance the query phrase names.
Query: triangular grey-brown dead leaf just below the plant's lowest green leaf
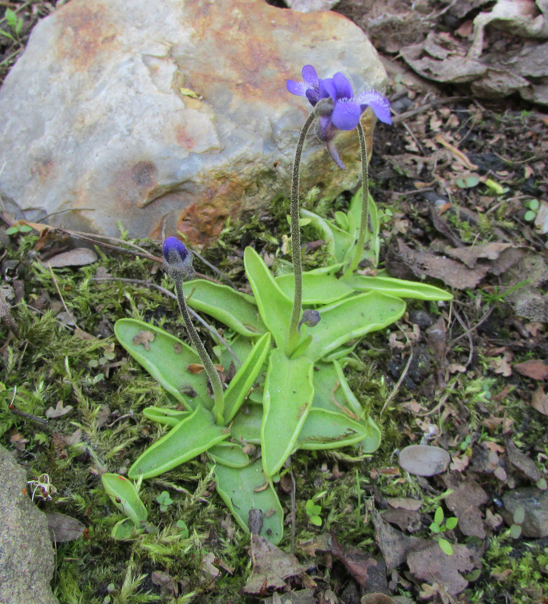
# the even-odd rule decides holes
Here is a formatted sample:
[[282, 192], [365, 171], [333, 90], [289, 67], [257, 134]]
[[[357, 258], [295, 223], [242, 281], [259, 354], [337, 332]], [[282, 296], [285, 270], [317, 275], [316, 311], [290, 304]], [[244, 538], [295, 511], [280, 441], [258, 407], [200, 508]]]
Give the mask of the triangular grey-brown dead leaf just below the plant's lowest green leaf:
[[250, 547], [253, 570], [243, 591], [259, 594], [266, 582], [266, 589], [285, 587], [285, 579], [304, 572], [304, 568], [292, 554], [286, 554], [267, 539], [253, 533]]

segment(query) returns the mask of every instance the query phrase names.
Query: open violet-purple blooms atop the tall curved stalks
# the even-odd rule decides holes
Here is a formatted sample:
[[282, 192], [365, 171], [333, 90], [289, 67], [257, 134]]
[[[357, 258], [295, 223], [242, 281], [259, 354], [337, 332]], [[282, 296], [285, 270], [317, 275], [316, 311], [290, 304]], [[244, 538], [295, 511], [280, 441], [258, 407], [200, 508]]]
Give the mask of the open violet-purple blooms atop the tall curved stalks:
[[303, 82], [287, 80], [286, 87], [291, 94], [308, 98], [313, 107], [326, 98], [332, 101], [324, 103], [318, 111], [317, 134], [320, 140], [326, 143], [329, 154], [335, 163], [344, 170], [344, 164], [338, 156], [333, 143], [338, 130], [353, 130], [358, 126], [361, 114], [368, 107], [373, 110], [376, 117], [385, 124], [392, 124], [390, 116], [390, 102], [380, 92], [368, 90], [354, 96], [354, 91], [346, 77], [337, 72], [332, 78], [320, 80], [312, 65], [303, 67]]

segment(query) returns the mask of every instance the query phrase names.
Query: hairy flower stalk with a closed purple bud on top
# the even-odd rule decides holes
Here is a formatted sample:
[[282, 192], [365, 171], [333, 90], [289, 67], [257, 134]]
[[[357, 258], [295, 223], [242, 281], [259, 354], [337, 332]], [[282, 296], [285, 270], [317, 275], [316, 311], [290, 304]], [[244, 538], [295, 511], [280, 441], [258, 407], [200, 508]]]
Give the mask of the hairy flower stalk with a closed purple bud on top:
[[192, 344], [194, 345], [199, 358], [202, 361], [202, 364], [204, 365], [205, 373], [207, 373], [211, 383], [211, 388], [213, 388], [213, 397], [215, 401], [213, 411], [216, 422], [218, 425], [224, 426], [225, 405], [221, 378], [219, 377], [219, 374], [213, 365], [213, 361], [211, 361], [207, 350], [205, 350], [203, 342], [199, 338], [198, 333], [192, 324], [189, 309], [187, 307], [182, 289], [182, 284], [184, 283], [185, 279], [192, 277], [194, 272], [192, 268], [192, 254], [190, 254], [190, 251], [187, 249], [184, 243], [179, 241], [179, 239], [176, 237], [167, 237], [167, 239], [164, 241], [163, 254], [164, 266], [167, 274], [173, 279], [173, 281], [175, 281], [175, 291], [177, 293], [179, 310], [181, 310], [181, 315], [187, 328], [187, 332], [192, 340]]

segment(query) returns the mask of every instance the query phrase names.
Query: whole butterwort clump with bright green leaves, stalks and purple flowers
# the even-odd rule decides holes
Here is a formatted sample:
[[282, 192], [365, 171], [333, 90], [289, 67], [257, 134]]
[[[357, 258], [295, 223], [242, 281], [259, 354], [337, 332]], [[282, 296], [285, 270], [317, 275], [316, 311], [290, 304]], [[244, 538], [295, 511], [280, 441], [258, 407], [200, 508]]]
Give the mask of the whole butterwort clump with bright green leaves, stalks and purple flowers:
[[[163, 244], [164, 268], [175, 283], [192, 346], [135, 318], [115, 324], [118, 341], [167, 394], [165, 406], [150, 406], [143, 413], [169, 430], [138, 456], [127, 477], [139, 483], [205, 454], [216, 490], [240, 527], [249, 532], [248, 519], [255, 522], [263, 515], [260, 535], [273, 543], [282, 539], [284, 524], [274, 486], [295, 451], [353, 446], [369, 453], [379, 446], [380, 431], [344, 373], [347, 365], [360, 363], [353, 353], [356, 344], [367, 333], [398, 320], [405, 311], [404, 297], [450, 298], [428, 284], [354, 274], [364, 248], [359, 234], [367, 226], [366, 188], [361, 202], [355, 196], [348, 214], [336, 216], [340, 226], [316, 222], [332, 235], [328, 245], [336, 262], [303, 275], [298, 172], [309, 127], [317, 120], [317, 133], [334, 159], [336, 132], [358, 129], [366, 166], [359, 118], [367, 106], [384, 121], [389, 121], [390, 111], [378, 93], [355, 96], [342, 74], [320, 80], [311, 66], [303, 69], [303, 82], [287, 86], [313, 107], [300, 133], [291, 185], [294, 274], [274, 277], [257, 251], [248, 247], [243, 260], [253, 295], [244, 294], [226, 284], [193, 278], [192, 252], [176, 237], [168, 237]], [[370, 245], [378, 248], [375, 224]], [[223, 339], [213, 330], [216, 362], [192, 323], [191, 309], [224, 325]], [[131, 508], [118, 509], [128, 516], [123, 527], [135, 535], [145, 516], [142, 509], [134, 513], [135, 493], [113, 478], [108, 494], [117, 504], [134, 501]]]

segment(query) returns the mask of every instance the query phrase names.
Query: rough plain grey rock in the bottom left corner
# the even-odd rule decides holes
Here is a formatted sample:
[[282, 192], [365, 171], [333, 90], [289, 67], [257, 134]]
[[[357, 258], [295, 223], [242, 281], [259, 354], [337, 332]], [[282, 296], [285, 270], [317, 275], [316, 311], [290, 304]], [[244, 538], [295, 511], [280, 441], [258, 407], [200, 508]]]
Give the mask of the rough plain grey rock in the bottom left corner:
[[59, 604], [51, 593], [54, 551], [44, 513], [30, 501], [25, 471], [0, 447], [0, 602]]

